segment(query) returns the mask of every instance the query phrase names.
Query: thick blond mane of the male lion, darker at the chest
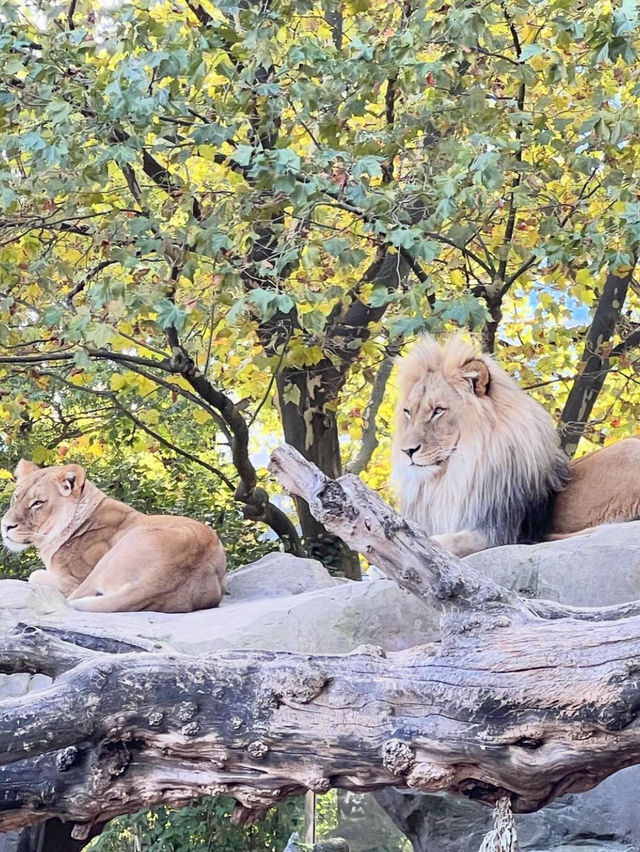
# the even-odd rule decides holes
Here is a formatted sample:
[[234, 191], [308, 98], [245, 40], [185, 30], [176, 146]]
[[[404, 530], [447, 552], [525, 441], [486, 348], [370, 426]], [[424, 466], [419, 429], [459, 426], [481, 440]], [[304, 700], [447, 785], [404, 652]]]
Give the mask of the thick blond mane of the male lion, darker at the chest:
[[[478, 362], [488, 371], [480, 395], [464, 381]], [[420, 469], [403, 447], [406, 400], [412, 392], [415, 400], [417, 385], [423, 396], [430, 385], [442, 393], [442, 379], [456, 407], [459, 439], [441, 470]], [[404, 517], [429, 535], [477, 530], [489, 546], [540, 541], [553, 498], [568, 481], [568, 459], [547, 412], [490, 356], [459, 337], [443, 345], [423, 338], [399, 360], [398, 391], [392, 484]], [[428, 440], [426, 428], [418, 440]]]

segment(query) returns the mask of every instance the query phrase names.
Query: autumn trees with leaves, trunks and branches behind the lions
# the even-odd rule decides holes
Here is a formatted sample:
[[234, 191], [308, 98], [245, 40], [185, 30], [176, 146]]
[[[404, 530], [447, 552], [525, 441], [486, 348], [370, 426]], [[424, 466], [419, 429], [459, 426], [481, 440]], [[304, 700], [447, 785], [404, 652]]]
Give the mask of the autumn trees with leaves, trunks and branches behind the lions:
[[416, 334], [478, 331], [570, 452], [635, 430], [635, 4], [0, 14], [7, 466], [200, 470], [357, 576], [303, 501], [300, 541], [261, 451], [282, 430], [331, 476], [366, 469]]

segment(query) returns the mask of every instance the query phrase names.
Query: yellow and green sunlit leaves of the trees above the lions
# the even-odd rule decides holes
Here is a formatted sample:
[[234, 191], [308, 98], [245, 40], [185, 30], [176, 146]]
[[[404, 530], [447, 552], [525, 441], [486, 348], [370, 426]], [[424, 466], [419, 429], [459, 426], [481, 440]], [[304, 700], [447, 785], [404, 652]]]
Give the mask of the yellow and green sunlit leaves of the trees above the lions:
[[[191, 409], [89, 350], [159, 358], [176, 330], [257, 409], [272, 370], [339, 360], [357, 294], [384, 311], [343, 394], [362, 412], [388, 337], [477, 329], [503, 290], [498, 354], [570, 377], [575, 327], [640, 238], [634, 4], [353, 2], [341, 47], [311, 0], [206, 3], [206, 26], [180, 3], [93, 5], [73, 30], [2, 7], [7, 351], [68, 349], [84, 372], [64, 378], [157, 406], [162, 431]], [[381, 247], [393, 286], [363, 283]], [[257, 325], [285, 319], [266, 355]], [[271, 399], [260, 417], [277, 427]]]

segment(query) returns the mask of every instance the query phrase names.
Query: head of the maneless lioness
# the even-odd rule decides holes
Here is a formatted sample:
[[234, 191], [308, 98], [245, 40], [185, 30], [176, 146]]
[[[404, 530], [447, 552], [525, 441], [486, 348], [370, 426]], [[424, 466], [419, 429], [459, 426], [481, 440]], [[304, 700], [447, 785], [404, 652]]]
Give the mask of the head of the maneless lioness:
[[2, 518], [2, 540], [14, 553], [53, 541], [73, 520], [85, 472], [80, 465], [39, 468], [22, 459], [15, 470], [18, 487]]

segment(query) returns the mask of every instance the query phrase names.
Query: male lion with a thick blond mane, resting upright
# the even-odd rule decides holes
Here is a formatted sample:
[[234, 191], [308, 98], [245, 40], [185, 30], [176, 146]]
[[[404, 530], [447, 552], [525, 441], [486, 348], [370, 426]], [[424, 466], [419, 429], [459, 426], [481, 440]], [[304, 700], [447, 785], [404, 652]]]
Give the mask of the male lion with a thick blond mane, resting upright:
[[400, 359], [400, 512], [458, 556], [640, 518], [640, 439], [575, 462], [547, 412], [459, 337]]

